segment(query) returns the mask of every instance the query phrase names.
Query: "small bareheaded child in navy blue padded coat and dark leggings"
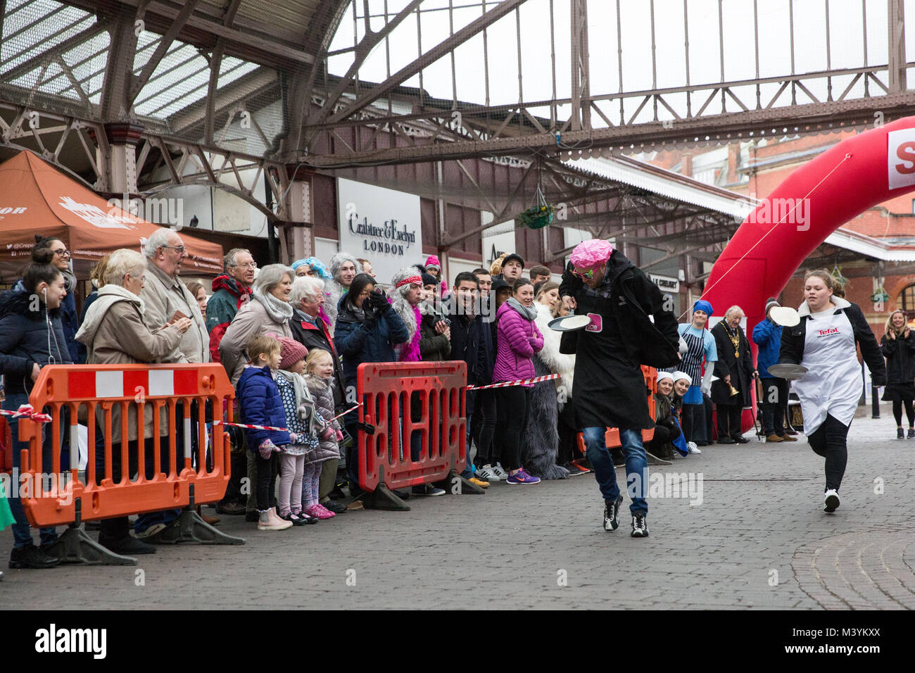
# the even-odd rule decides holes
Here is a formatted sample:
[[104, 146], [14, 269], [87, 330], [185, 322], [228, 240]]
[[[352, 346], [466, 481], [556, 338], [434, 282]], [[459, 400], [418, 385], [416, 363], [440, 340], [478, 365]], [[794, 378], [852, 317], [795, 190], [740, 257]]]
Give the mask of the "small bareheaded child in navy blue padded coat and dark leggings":
[[[235, 385], [242, 423], [272, 428], [285, 428], [285, 411], [274, 373], [280, 366], [280, 342], [261, 334], [248, 342], [248, 364]], [[245, 429], [248, 448], [257, 463], [257, 521], [258, 530], [284, 530], [291, 521], [276, 514], [276, 473], [278, 454], [291, 443], [287, 430]]]

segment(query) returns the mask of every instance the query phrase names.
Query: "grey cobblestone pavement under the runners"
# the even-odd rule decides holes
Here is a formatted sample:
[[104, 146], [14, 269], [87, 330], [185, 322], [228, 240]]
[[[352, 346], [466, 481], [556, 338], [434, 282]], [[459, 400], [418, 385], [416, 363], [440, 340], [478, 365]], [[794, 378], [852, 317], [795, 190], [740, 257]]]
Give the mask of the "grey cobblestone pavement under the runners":
[[[278, 533], [223, 516], [244, 547], [160, 547], [138, 567], [5, 570], [0, 607], [911, 608], [915, 440], [893, 436], [887, 415], [856, 419], [834, 515], [802, 435], [754, 438], [652, 469], [654, 486], [673, 473], [703, 481], [701, 504], [695, 492], [695, 505], [651, 497], [647, 539], [629, 537], [628, 516], [602, 530], [590, 474], [496, 483]], [[0, 534], [0, 558], [11, 546]]]

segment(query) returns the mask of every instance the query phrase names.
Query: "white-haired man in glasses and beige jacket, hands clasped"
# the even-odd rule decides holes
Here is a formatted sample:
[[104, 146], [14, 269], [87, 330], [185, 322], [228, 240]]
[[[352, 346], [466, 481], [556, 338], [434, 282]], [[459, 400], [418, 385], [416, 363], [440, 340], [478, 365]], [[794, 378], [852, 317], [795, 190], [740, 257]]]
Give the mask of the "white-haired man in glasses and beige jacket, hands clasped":
[[[146, 241], [146, 284], [140, 299], [146, 307], [144, 320], [150, 331], [167, 325], [177, 313], [191, 320], [178, 348], [163, 360], [165, 363], [209, 363], [210, 335], [200, 313], [197, 299], [178, 278], [188, 249], [173, 229], [159, 229]], [[178, 316], [178, 317], [181, 317]]]

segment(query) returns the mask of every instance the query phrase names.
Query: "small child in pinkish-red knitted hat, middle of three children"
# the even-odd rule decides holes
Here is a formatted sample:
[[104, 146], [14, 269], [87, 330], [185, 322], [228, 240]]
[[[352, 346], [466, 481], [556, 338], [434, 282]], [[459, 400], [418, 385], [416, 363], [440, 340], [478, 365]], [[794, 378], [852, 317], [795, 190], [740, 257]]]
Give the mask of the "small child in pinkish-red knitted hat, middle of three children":
[[[278, 337], [280, 368], [276, 371], [276, 387], [280, 391], [285, 411], [285, 427], [292, 443], [280, 454], [280, 494], [277, 514], [293, 526], [317, 524], [318, 517], [307, 511], [302, 499], [302, 483], [315, 478], [308, 469], [307, 455], [318, 449], [318, 418], [315, 401], [308, 392], [303, 374], [308, 349], [295, 339]], [[306, 505], [303, 509], [303, 503]]]

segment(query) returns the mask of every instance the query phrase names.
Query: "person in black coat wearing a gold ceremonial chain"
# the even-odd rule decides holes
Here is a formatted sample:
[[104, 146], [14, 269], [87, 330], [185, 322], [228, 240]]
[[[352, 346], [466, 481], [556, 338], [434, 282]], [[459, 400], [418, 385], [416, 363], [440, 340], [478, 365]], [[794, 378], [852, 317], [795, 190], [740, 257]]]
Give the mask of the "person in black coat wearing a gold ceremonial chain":
[[[727, 309], [724, 320], [712, 328], [718, 360], [712, 384], [712, 401], [718, 411], [718, 443], [746, 444], [748, 440], [740, 431], [740, 417], [744, 407], [753, 404], [752, 386], [757, 373], [749, 354], [747, 335], [740, 327], [744, 312], [739, 306]], [[737, 395], [731, 394], [731, 386]]]

